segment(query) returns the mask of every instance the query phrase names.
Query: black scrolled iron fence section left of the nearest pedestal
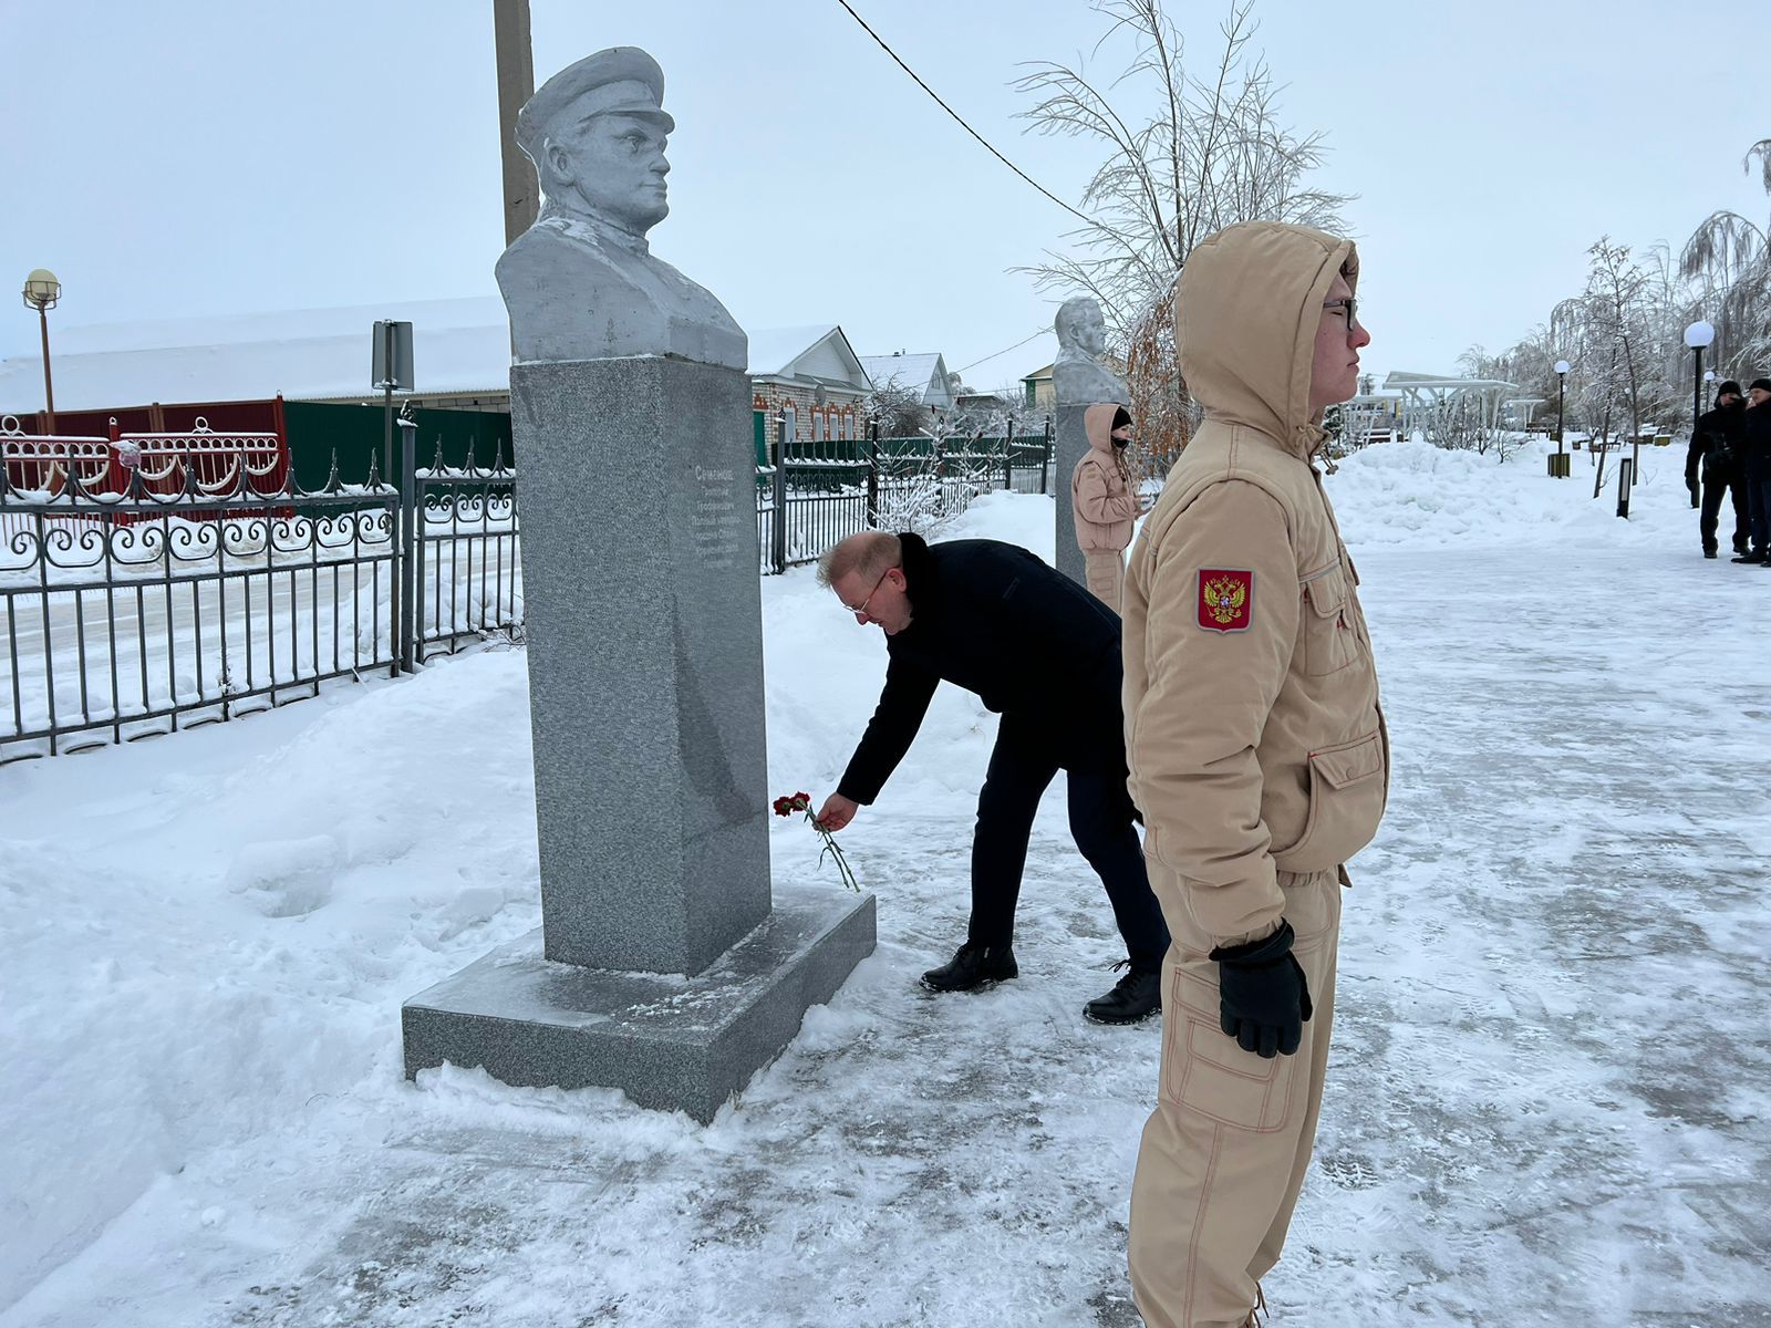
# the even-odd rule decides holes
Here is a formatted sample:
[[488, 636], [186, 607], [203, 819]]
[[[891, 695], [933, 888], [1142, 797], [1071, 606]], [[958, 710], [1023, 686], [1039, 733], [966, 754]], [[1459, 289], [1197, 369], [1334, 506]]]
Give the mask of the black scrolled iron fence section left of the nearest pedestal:
[[[522, 620], [515, 475], [333, 464], [266, 483], [257, 436], [0, 423], [0, 763], [237, 719]], [[151, 441], [151, 444], [149, 444]], [[230, 459], [230, 453], [232, 459]]]

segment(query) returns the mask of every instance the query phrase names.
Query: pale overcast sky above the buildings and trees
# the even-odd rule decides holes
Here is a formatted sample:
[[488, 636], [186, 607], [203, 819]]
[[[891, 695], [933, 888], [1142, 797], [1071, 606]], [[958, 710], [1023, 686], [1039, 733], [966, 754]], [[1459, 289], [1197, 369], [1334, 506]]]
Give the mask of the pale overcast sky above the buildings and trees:
[[[1094, 46], [1107, 23], [1084, 0], [852, 4], [1011, 161], [1079, 197], [1100, 151], [1025, 133], [1011, 83], [1024, 62]], [[677, 133], [653, 251], [742, 324], [839, 322], [861, 354], [940, 351], [979, 388], [1050, 359], [1057, 296], [1009, 269], [1061, 248], [1073, 220], [838, 0], [531, 5], [537, 81], [616, 44], [664, 67]], [[1171, 5], [1201, 74], [1226, 9]], [[1360, 195], [1367, 367], [1445, 372], [1470, 344], [1511, 345], [1582, 285], [1601, 234], [1677, 248], [1716, 207], [1762, 223], [1771, 200], [1741, 170], [1771, 135], [1767, 37], [1748, 11], [1259, 0], [1286, 119], [1328, 135], [1318, 179]], [[0, 0], [0, 282], [57, 273], [51, 338], [494, 294], [491, 14], [491, 0]], [[1123, 60], [1110, 46], [1094, 67]], [[35, 317], [5, 299], [0, 354], [28, 352]]]

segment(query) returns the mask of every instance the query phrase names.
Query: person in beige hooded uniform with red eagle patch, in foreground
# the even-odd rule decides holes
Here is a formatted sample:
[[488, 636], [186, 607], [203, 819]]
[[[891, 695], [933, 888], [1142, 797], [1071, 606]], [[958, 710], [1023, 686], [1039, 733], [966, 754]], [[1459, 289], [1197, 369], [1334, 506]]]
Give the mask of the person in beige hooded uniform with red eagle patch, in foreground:
[[1149, 1328], [1254, 1317], [1316, 1139], [1344, 862], [1388, 735], [1358, 575], [1312, 459], [1353, 395], [1353, 244], [1231, 227], [1187, 259], [1176, 347], [1206, 420], [1125, 591], [1125, 721], [1164, 963], [1162, 1084], [1132, 1186]]

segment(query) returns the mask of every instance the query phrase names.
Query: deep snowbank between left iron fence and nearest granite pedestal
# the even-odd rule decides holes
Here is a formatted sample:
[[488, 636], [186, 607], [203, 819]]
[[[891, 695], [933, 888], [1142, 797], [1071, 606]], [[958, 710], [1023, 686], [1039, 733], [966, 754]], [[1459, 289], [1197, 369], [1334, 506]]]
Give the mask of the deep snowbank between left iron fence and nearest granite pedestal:
[[540, 914], [517, 652], [11, 765], [0, 806], [0, 1305], [193, 1154], [397, 1077], [414, 974]]

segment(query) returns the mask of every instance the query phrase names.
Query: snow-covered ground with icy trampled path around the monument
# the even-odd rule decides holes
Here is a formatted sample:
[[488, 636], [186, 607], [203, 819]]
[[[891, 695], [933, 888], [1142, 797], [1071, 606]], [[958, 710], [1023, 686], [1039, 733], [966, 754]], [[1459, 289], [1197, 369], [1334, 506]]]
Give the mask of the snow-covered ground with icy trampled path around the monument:
[[[1771, 572], [1383, 444], [1328, 483], [1396, 744], [1275, 1324], [1771, 1323]], [[1052, 552], [1050, 499], [947, 535]], [[1728, 531], [1723, 531], [1727, 540]], [[878, 634], [763, 581], [770, 786], [829, 790]], [[942, 689], [845, 832], [880, 947], [700, 1128], [400, 1077], [398, 1006], [538, 921], [524, 659], [0, 770], [0, 1326], [1135, 1323], [1156, 1025], [1054, 791], [1022, 979], [933, 997], [994, 721]], [[774, 822], [781, 884], [836, 889]]]

